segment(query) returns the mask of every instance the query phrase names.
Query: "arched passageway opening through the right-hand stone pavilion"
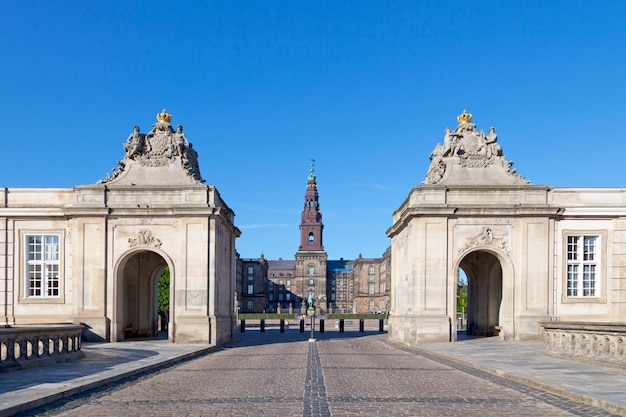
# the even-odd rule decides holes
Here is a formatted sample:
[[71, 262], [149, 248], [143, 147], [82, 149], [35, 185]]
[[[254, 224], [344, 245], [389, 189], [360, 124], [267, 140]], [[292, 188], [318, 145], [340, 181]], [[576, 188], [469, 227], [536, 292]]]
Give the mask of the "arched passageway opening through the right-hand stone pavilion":
[[489, 252], [475, 251], [467, 254], [459, 267], [467, 277], [467, 335], [497, 335], [502, 304], [500, 261]]

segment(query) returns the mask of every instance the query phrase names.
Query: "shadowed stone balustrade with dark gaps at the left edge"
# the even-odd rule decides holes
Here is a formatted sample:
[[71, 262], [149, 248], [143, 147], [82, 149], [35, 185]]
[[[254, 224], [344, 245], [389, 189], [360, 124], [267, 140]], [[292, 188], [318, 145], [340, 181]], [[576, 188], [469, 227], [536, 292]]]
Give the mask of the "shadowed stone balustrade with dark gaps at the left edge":
[[78, 359], [83, 325], [20, 325], [0, 328], [0, 371]]

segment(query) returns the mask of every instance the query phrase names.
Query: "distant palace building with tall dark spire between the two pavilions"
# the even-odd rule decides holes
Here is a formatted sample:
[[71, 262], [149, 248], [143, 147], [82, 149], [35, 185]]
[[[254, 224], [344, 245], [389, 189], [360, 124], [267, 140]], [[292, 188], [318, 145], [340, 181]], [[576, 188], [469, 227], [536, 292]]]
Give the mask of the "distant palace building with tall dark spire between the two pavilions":
[[371, 313], [388, 310], [391, 260], [328, 259], [324, 250], [322, 212], [314, 161], [311, 162], [300, 220], [295, 260], [238, 258], [238, 311], [303, 314], [309, 295], [317, 315], [333, 312]]

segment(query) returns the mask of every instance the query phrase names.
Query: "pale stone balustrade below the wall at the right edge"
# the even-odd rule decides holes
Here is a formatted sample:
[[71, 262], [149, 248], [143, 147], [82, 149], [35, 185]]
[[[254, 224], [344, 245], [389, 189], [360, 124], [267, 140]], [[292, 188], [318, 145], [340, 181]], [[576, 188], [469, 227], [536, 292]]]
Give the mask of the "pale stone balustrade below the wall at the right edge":
[[586, 362], [626, 366], [626, 323], [542, 323], [548, 353]]

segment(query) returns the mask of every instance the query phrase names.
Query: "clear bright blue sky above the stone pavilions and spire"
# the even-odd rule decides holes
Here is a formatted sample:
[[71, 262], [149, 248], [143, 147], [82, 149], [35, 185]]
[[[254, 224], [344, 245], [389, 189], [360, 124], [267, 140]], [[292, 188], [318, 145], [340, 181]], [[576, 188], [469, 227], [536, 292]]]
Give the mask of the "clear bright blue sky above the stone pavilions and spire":
[[316, 160], [330, 259], [393, 211], [463, 110], [519, 174], [623, 187], [624, 1], [5, 1], [0, 186], [103, 178], [163, 108], [236, 213], [242, 257], [293, 259]]

